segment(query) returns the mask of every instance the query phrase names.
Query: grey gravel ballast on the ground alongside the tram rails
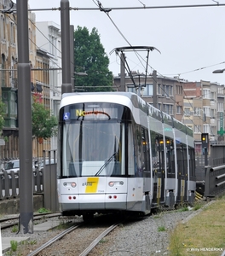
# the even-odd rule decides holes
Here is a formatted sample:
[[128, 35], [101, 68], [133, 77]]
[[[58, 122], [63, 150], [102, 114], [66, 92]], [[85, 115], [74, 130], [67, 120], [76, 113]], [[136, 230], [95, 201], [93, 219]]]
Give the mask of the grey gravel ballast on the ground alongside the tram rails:
[[[120, 225], [116, 230], [113, 230], [107, 237], [103, 238], [101, 243], [89, 253], [90, 256], [104, 255], [104, 256], [149, 256], [149, 255], [166, 255], [169, 253], [169, 236], [170, 231], [173, 230], [176, 224], [184, 222], [197, 214], [199, 211], [185, 211], [185, 212], [161, 212], [157, 215], [151, 215], [144, 218], [132, 221], [129, 224]], [[55, 220], [58, 218], [55, 218]], [[51, 219], [52, 220], [52, 219]], [[75, 217], [75, 222], [82, 221], [82, 218]], [[43, 242], [56, 236], [61, 230], [50, 230], [43, 232], [34, 232], [33, 234], [14, 234], [12, 229], [2, 230], [2, 236], [29, 236], [32, 242], [26, 246], [26, 253], [23, 254], [24, 246], [18, 248], [20, 255], [27, 255], [27, 251], [32, 252], [36, 247], [39, 247]], [[74, 236], [74, 240], [78, 237]], [[82, 243], [82, 241], [80, 241]], [[64, 248], [72, 247], [72, 239], [63, 241]], [[66, 255], [65, 249], [61, 252], [60, 242], [56, 242], [52, 249], [48, 249], [48, 254], [42, 253], [40, 255]], [[5, 255], [7, 255], [5, 253]], [[77, 256], [74, 250], [74, 255]]]

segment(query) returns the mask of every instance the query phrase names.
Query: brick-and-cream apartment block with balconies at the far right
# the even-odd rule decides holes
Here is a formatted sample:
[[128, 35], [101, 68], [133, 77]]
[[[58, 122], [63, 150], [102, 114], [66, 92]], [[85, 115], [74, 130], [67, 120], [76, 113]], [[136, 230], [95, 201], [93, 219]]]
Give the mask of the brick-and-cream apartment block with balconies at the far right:
[[185, 83], [182, 122], [193, 128], [196, 152], [201, 154], [201, 133], [211, 143], [224, 142], [224, 85], [209, 81]]

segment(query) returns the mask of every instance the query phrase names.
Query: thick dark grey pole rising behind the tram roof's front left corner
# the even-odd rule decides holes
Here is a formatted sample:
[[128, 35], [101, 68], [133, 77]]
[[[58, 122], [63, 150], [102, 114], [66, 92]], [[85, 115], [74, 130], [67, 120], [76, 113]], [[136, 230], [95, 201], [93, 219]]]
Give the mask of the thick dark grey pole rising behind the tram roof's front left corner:
[[71, 54], [70, 54], [70, 4], [61, 0], [61, 93], [72, 92]]

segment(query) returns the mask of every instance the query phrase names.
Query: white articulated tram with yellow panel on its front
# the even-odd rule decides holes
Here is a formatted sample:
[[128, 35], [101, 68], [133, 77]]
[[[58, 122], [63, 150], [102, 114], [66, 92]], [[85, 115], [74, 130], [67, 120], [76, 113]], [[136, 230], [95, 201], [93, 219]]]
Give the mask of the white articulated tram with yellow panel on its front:
[[128, 92], [61, 99], [58, 195], [63, 215], [193, 203], [193, 131]]

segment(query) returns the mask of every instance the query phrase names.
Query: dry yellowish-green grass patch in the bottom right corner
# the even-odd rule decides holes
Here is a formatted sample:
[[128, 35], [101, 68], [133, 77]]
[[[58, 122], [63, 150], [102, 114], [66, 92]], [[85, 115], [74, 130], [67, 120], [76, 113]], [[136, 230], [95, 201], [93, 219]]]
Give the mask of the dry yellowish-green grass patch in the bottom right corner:
[[[199, 205], [193, 210], [199, 209]], [[225, 196], [170, 233], [170, 255], [217, 256], [225, 250]]]

